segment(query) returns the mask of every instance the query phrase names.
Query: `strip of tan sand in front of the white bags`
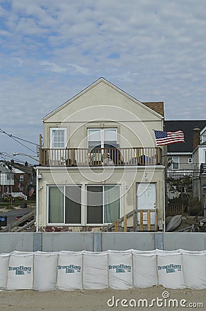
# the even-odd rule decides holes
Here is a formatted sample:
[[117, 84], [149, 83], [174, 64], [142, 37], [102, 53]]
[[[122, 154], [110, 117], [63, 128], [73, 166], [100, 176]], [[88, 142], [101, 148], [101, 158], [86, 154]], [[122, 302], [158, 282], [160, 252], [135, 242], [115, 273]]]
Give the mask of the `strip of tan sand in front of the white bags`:
[[[165, 299], [163, 299], [163, 292], [166, 296], [169, 293], [169, 298], [165, 296]], [[114, 299], [109, 300], [112, 297]], [[120, 301], [117, 299], [120, 299]], [[122, 302], [122, 299], [126, 299], [126, 301]], [[134, 299], [137, 303], [136, 307]], [[148, 304], [151, 304], [152, 299], [159, 300], [158, 305], [154, 301], [151, 307], [149, 305], [147, 307], [146, 305], [140, 305], [138, 307], [138, 302], [141, 303], [140, 299], [147, 299]], [[176, 299], [174, 302], [175, 307], [172, 306], [171, 302], [171, 308], [169, 308], [169, 299]], [[107, 303], [108, 300], [110, 306]], [[59, 290], [54, 292], [19, 290], [0, 292], [0, 301], [1, 311], [206, 310], [206, 290], [171, 290], [162, 288], [162, 286], [154, 286], [153, 288], [146, 289], [133, 288], [131, 290], [106, 289], [67, 292]], [[164, 303], [163, 306], [162, 303]], [[180, 307], [180, 303], [182, 303], [182, 307]], [[189, 303], [192, 303], [192, 305], [189, 305]], [[198, 306], [197, 303], [202, 303], [202, 306]], [[116, 306], [117, 304], [118, 306]], [[185, 305], [185, 308], [183, 305]]]

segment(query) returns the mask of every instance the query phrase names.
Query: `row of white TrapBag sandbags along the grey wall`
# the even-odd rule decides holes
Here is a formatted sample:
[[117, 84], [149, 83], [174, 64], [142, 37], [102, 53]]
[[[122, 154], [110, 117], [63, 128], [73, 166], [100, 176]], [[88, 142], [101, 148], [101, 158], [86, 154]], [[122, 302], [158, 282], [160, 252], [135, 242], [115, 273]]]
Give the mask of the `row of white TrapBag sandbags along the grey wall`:
[[0, 290], [206, 288], [206, 251], [11, 252], [0, 254]]

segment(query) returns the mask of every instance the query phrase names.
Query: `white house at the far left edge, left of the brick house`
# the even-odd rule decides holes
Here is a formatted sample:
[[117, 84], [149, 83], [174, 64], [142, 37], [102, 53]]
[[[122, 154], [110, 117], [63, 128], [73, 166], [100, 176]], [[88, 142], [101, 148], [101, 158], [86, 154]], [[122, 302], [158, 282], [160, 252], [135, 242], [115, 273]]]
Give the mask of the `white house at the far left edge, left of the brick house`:
[[11, 167], [5, 162], [0, 162], [0, 196], [6, 196], [13, 191], [14, 182], [14, 173], [11, 170]]

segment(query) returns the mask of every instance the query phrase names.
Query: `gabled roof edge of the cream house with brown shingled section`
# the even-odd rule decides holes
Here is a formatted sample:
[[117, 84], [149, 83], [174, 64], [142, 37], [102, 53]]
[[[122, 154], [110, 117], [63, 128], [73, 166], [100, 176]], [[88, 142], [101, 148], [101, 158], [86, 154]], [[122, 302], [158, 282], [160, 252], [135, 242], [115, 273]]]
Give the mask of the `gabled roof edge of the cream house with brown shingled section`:
[[[87, 86], [86, 88], [84, 88], [83, 91], [81, 91], [80, 93], [78, 93], [77, 95], [72, 97], [70, 100], [64, 102], [64, 104], [62, 104], [59, 107], [57, 107], [57, 109], [55, 109], [55, 110], [51, 111], [50, 113], [48, 113], [48, 115], [46, 115], [43, 118], [43, 122], [45, 120], [47, 120], [50, 116], [55, 114], [57, 111], [59, 111], [60, 109], [63, 109], [64, 106], [66, 106], [68, 104], [71, 104], [71, 102], [76, 100], [78, 97], [82, 96], [84, 93], [86, 93], [89, 90], [91, 90], [91, 88], [95, 87], [100, 82], [104, 82], [108, 86], [111, 86], [112, 88], [114, 88], [119, 93], [122, 93], [122, 95], [129, 97], [131, 100], [133, 100], [133, 102], [136, 102], [136, 103], [140, 104], [141, 106], [144, 106], [144, 109], [147, 109], [148, 111], [154, 113], [155, 115], [158, 115], [159, 117], [164, 115], [164, 102], [144, 102], [144, 103], [142, 103], [139, 100], [136, 100], [135, 97], [132, 97], [131, 95], [129, 95], [128, 93], [122, 91], [120, 88], [118, 88], [117, 86], [115, 86], [114, 84], [109, 82], [108, 80], [104, 79], [104, 77], [100, 77], [95, 82], [93, 82], [93, 84], [91, 84], [90, 86]], [[159, 108], [158, 108], [158, 106], [159, 106]]]

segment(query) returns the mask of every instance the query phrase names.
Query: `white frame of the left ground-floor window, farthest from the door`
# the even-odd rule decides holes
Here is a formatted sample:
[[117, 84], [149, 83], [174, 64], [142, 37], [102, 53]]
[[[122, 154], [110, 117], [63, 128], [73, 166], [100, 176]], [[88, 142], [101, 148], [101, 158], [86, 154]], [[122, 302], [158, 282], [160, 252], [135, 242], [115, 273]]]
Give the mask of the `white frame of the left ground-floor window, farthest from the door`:
[[[65, 196], [65, 193], [66, 193], [66, 187], [76, 187], [76, 186], [79, 186], [81, 191], [80, 191], [80, 195], [81, 195], [81, 216], [80, 216], [80, 223], [65, 223], [65, 218], [66, 218], [66, 215], [65, 215], [65, 211], [66, 211], [66, 196]], [[49, 188], [50, 187], [63, 187], [64, 188], [64, 202], [63, 202], [63, 223], [49, 223], [48, 222], [48, 218], [49, 218]], [[79, 226], [79, 225], [82, 225], [82, 185], [47, 185], [47, 216], [46, 216], [46, 224], [48, 226]]]

